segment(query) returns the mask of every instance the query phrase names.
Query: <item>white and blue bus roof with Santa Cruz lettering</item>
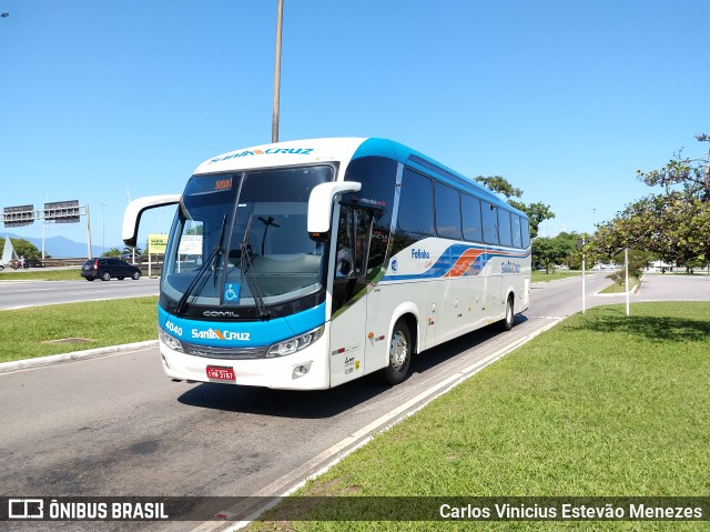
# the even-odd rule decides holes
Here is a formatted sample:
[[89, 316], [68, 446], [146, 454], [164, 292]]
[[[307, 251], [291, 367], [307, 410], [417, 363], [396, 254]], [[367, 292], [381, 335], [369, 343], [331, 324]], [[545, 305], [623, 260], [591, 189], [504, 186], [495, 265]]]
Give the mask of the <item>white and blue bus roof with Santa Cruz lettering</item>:
[[[290, 167], [313, 162], [347, 161], [362, 157], [385, 157], [468, 190], [477, 197], [526, 217], [471, 179], [399, 142], [378, 138], [325, 138], [294, 140], [243, 148], [207, 159], [195, 174], [257, 168]], [[342, 167], [344, 169], [344, 167]]]

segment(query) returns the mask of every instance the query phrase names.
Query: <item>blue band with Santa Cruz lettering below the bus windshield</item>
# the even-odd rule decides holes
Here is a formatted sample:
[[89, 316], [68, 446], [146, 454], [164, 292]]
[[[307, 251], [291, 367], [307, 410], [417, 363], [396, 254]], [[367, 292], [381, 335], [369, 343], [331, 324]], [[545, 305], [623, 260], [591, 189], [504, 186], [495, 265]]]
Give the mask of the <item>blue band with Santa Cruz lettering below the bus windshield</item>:
[[201, 321], [178, 318], [158, 308], [158, 323], [173, 337], [196, 345], [256, 348], [297, 337], [325, 323], [325, 303], [268, 321]]

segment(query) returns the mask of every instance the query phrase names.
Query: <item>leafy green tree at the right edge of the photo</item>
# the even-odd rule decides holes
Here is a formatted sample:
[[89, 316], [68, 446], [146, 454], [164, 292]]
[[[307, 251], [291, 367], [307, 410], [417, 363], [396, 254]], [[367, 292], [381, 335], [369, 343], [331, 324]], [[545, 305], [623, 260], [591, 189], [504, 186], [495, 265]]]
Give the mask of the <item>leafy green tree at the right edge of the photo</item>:
[[[697, 135], [699, 141], [710, 137]], [[661, 191], [630, 203], [598, 227], [591, 244], [600, 253], [620, 248], [652, 252], [689, 270], [710, 259], [710, 162], [679, 151], [660, 170], [637, 171], [639, 180]]]

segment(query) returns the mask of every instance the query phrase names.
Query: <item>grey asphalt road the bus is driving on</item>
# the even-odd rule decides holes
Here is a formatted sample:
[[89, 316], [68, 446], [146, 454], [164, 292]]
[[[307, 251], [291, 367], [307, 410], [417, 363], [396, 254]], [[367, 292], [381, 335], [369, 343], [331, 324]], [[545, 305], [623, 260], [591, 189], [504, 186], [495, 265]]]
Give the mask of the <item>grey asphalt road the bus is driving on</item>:
[[[591, 297], [607, 283], [587, 279], [588, 307], [623, 301]], [[710, 279], [690, 291], [710, 299]], [[378, 375], [314, 392], [174, 383], [156, 349], [0, 374], [0, 495], [278, 495], [439, 393], [443, 382], [580, 308], [579, 279], [534, 284], [532, 304], [513, 331], [487, 328], [423, 353], [412, 378], [394, 388]], [[195, 526], [221, 525], [36, 522], [12, 530]]]

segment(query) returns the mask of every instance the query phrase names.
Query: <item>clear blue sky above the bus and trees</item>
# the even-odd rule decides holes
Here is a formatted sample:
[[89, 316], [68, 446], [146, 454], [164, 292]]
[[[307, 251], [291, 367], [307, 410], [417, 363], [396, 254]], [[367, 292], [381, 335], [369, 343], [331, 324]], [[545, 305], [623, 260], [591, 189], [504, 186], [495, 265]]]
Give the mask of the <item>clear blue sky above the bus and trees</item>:
[[[79, 200], [123, 249], [129, 197], [270, 142], [276, 6], [0, 0], [0, 208]], [[652, 191], [637, 170], [707, 158], [709, 22], [708, 0], [285, 0], [280, 140], [396, 140], [594, 232]], [[87, 241], [85, 217], [44, 230]]]

